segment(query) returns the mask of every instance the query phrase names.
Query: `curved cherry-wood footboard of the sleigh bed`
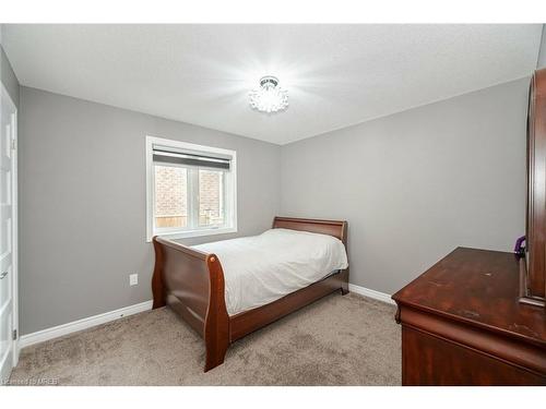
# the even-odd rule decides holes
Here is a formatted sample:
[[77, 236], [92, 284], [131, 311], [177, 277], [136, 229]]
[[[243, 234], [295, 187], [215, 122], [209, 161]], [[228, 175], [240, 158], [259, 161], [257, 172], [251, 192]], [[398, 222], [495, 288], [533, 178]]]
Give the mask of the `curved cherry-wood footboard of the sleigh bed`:
[[206, 347], [205, 372], [224, 362], [229, 346], [224, 272], [215, 254], [154, 237], [153, 308], [168, 304]]

